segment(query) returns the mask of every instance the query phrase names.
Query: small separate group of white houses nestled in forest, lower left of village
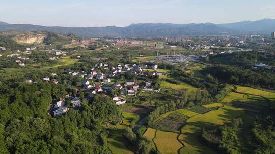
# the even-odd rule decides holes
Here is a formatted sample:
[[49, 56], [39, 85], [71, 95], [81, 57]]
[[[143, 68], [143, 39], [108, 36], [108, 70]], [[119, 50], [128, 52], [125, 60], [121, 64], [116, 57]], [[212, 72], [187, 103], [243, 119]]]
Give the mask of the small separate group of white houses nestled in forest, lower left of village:
[[69, 107], [66, 106], [68, 102], [68, 100], [71, 101], [71, 107], [72, 108], [78, 108], [81, 106], [81, 100], [79, 97], [70, 97], [70, 96], [66, 96], [65, 99], [60, 98], [58, 102], [54, 103], [52, 105], [52, 113], [54, 115], [54, 117], [58, 117], [62, 114], [65, 114], [67, 111], [69, 111]]

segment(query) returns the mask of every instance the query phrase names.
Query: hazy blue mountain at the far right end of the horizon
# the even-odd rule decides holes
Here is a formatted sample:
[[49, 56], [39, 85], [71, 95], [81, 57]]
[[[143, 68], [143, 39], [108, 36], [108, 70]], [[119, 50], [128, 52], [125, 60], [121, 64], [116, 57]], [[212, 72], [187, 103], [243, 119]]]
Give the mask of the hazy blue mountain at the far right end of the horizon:
[[242, 32], [271, 33], [275, 31], [275, 19], [262, 19], [257, 21], [241, 21], [227, 24], [217, 24], [225, 28]]

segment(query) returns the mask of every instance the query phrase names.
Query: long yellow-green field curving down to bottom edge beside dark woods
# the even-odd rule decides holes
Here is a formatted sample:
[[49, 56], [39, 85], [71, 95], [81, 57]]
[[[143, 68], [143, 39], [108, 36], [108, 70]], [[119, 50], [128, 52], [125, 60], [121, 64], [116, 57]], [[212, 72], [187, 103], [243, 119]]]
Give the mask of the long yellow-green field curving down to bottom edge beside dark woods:
[[215, 153], [209, 147], [201, 144], [199, 139], [202, 128], [213, 129], [229, 122], [232, 118], [244, 117], [244, 115], [245, 112], [242, 109], [224, 106], [218, 110], [197, 114], [189, 118], [179, 136], [180, 141], [185, 145], [180, 149], [180, 153]]

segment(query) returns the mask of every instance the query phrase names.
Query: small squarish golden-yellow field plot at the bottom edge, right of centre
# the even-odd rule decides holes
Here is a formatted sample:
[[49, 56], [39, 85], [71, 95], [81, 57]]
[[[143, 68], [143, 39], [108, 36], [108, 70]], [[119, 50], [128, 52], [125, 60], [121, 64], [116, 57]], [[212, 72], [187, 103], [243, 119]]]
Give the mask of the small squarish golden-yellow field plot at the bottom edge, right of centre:
[[160, 153], [177, 153], [182, 144], [177, 140], [177, 133], [157, 131], [154, 142]]

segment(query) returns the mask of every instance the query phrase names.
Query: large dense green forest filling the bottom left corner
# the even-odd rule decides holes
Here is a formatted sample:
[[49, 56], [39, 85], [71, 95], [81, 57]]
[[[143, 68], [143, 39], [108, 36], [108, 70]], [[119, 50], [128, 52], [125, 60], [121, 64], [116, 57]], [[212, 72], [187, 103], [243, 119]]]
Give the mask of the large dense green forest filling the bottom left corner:
[[63, 85], [0, 84], [0, 153], [109, 153], [104, 126], [122, 117], [111, 98], [82, 100], [79, 110], [52, 118], [46, 113], [65, 96]]

